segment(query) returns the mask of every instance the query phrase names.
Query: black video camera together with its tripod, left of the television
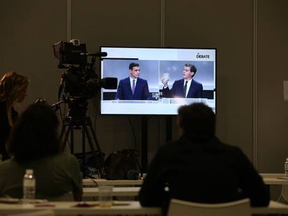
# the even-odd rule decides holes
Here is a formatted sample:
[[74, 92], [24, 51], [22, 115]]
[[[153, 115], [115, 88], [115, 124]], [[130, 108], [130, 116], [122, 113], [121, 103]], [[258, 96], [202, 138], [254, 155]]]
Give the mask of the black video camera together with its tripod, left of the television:
[[[70, 137], [70, 151], [74, 153], [74, 129], [81, 129], [82, 134], [82, 171], [84, 175], [86, 168], [86, 139], [90, 150], [95, 158], [95, 167], [99, 176], [104, 176], [104, 156], [99, 147], [95, 131], [93, 129], [90, 117], [86, 115], [88, 110], [88, 99], [94, 97], [98, 90], [116, 89], [117, 78], [106, 77], [99, 79], [95, 73], [95, 58], [107, 56], [107, 53], [87, 53], [86, 44], [80, 43], [74, 39], [70, 42], [57, 42], [53, 45], [54, 56], [58, 58], [58, 68], [66, 69], [61, 76], [58, 90], [58, 102], [54, 107], [56, 110], [61, 103], [68, 103], [67, 116], [63, 118], [61, 129], [61, 151], [64, 151], [68, 138]], [[90, 58], [90, 62], [88, 62]], [[62, 90], [65, 95], [61, 101]], [[96, 151], [97, 149], [97, 151]]]

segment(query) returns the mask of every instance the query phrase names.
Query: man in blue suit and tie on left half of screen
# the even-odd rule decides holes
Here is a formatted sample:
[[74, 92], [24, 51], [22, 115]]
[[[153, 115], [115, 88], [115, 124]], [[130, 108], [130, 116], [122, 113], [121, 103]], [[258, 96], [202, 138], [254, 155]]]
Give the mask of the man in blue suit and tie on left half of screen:
[[130, 63], [130, 76], [120, 80], [116, 93], [116, 100], [150, 100], [148, 83], [140, 78], [140, 66], [138, 63]]

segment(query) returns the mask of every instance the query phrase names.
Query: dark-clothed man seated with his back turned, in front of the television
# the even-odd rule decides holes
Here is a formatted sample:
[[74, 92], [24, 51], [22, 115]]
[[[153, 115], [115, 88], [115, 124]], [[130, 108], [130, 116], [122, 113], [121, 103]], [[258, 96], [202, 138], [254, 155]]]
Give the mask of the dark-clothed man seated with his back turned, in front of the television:
[[249, 198], [251, 206], [268, 206], [269, 190], [250, 160], [216, 138], [211, 108], [182, 106], [177, 123], [182, 136], [154, 156], [138, 196], [142, 206], [161, 206], [163, 215], [173, 198], [198, 203]]

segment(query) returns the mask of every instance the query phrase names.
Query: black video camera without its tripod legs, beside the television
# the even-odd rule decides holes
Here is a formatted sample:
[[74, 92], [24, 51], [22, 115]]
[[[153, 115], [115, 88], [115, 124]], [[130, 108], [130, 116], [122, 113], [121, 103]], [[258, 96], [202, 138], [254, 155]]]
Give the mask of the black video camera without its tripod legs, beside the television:
[[[70, 42], [53, 44], [54, 56], [58, 58], [58, 68], [67, 69], [62, 74], [59, 86], [58, 99], [63, 90], [71, 97], [90, 99], [101, 88], [116, 89], [117, 78], [106, 77], [99, 80], [95, 73], [95, 58], [107, 56], [107, 53], [87, 53], [86, 44], [73, 39]], [[88, 63], [88, 56], [91, 57]]]

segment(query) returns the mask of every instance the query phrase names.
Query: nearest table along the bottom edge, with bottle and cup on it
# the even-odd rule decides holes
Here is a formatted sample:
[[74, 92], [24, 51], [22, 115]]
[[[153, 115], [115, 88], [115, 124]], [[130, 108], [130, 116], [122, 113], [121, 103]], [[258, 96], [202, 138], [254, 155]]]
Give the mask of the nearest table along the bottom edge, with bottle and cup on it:
[[[87, 202], [97, 203], [97, 202]], [[161, 208], [142, 207], [138, 201], [116, 201], [111, 208], [76, 207], [77, 202], [47, 202], [36, 205], [0, 203], [0, 215], [31, 213], [37, 210], [54, 210], [56, 215], [155, 215], [161, 216]], [[270, 201], [268, 207], [250, 208], [252, 214], [287, 214], [288, 205]]]

